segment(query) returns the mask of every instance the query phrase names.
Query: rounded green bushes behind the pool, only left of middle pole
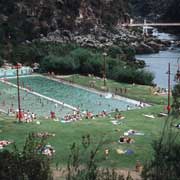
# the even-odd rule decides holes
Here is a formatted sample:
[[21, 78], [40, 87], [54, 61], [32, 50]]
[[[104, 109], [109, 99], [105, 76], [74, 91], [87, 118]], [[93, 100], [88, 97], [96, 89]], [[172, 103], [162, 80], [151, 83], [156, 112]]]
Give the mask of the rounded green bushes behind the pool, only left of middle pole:
[[40, 64], [43, 72], [53, 71], [58, 74], [92, 73], [100, 75], [102, 69], [99, 56], [83, 48], [74, 49], [64, 57], [46, 56]]

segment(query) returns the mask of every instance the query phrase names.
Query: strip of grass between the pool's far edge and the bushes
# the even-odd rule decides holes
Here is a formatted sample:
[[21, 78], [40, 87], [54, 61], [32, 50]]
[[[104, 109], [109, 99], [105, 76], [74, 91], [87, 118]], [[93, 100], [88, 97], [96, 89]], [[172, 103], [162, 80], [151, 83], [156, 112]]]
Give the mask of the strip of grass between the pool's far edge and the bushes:
[[[70, 77], [64, 77], [64, 80], [73, 81], [76, 84], [83, 85], [89, 87], [90, 82], [95, 82], [95, 89], [102, 90], [103, 87], [103, 80], [102, 79], [94, 79], [93, 77], [88, 76], [81, 76], [81, 75], [72, 75]], [[114, 80], [107, 80], [107, 87], [109, 91], [115, 92], [115, 89], [118, 90], [122, 88], [123, 92], [124, 89], [127, 89], [127, 93], [120, 93], [119, 95], [132, 98], [138, 101], [143, 101], [150, 104], [159, 104], [165, 105], [167, 104], [167, 96], [158, 96], [153, 95], [152, 87], [151, 86], [144, 86], [144, 85], [132, 85], [132, 84], [125, 84], [119, 83]]]

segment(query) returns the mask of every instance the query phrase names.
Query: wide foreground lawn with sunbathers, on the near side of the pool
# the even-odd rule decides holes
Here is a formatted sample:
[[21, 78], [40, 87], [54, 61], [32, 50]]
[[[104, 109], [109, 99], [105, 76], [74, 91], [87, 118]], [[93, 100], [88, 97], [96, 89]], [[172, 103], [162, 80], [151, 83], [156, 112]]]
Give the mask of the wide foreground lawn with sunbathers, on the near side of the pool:
[[[30, 132], [51, 132], [55, 137], [50, 137], [47, 142], [55, 147], [56, 155], [54, 164], [65, 165], [69, 154], [69, 147], [73, 142], [80, 144], [83, 135], [90, 134], [93, 144], [104, 138], [105, 145], [98, 153], [100, 166], [133, 168], [136, 160], [144, 162], [152, 157], [152, 141], [160, 135], [165, 118], [157, 117], [163, 106], [156, 105], [141, 110], [123, 112], [126, 117], [123, 124], [113, 125], [110, 117], [98, 118], [95, 120], [82, 120], [76, 123], [62, 124], [52, 120], [40, 120], [41, 124], [15, 122], [12, 117], [0, 116], [0, 139], [13, 140], [18, 147], [22, 147], [25, 138]], [[143, 114], [153, 114], [156, 118], [144, 117]], [[119, 131], [117, 131], [117, 129]], [[133, 136], [134, 144], [119, 144], [117, 141], [124, 131], [129, 129], [138, 130], [145, 133], [144, 136]], [[9, 148], [11, 145], [9, 146]], [[110, 149], [110, 157], [104, 159], [104, 149]], [[133, 155], [119, 155], [116, 149], [132, 149]], [[84, 155], [85, 156], [85, 155]], [[86, 157], [86, 156], [85, 156]]]

